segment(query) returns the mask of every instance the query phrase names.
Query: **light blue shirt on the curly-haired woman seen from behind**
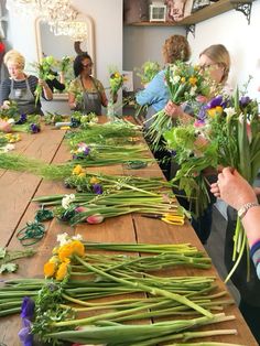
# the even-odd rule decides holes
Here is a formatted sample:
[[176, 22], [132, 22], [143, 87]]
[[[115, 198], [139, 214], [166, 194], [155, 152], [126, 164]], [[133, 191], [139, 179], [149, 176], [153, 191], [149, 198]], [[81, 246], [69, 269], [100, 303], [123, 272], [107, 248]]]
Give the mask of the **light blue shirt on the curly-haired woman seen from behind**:
[[136, 100], [140, 106], [152, 106], [158, 112], [162, 110], [170, 99], [165, 82], [165, 69], [159, 72], [149, 83], [145, 89], [139, 91]]

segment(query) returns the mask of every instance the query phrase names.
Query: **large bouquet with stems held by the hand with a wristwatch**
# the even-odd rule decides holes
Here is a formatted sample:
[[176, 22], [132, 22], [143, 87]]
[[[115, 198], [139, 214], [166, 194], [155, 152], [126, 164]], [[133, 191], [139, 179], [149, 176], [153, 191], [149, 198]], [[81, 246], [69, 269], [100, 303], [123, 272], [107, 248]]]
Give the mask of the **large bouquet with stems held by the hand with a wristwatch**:
[[[181, 164], [174, 181], [180, 181], [180, 187], [185, 190], [187, 196], [198, 198], [204, 208], [207, 196], [203, 171], [206, 167], [235, 167], [250, 184], [260, 170], [258, 102], [243, 94], [240, 97], [238, 89], [232, 97], [218, 96], [207, 102], [194, 127], [173, 128], [164, 133], [164, 138], [167, 147], [176, 152], [175, 158]], [[234, 270], [246, 248], [247, 237], [238, 218]]]

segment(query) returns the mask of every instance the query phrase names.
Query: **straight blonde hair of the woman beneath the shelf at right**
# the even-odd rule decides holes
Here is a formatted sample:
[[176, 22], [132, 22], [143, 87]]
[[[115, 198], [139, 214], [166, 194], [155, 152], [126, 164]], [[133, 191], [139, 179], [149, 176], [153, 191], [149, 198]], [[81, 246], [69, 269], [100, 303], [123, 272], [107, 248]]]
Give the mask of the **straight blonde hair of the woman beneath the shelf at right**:
[[229, 69], [230, 69], [230, 55], [228, 50], [223, 44], [213, 44], [206, 50], [204, 50], [201, 54], [206, 55], [214, 63], [218, 64], [224, 68], [221, 83], [225, 83], [228, 78]]

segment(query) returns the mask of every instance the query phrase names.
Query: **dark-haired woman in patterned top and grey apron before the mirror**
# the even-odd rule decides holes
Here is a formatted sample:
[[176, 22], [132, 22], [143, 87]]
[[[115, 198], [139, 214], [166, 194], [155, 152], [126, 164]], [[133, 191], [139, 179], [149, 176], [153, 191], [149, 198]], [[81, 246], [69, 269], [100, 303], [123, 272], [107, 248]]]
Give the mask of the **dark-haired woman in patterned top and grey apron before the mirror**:
[[74, 61], [76, 79], [68, 87], [68, 105], [73, 110], [84, 113], [95, 112], [101, 116], [101, 106], [108, 106], [108, 99], [101, 82], [91, 76], [93, 61], [87, 53], [82, 53]]

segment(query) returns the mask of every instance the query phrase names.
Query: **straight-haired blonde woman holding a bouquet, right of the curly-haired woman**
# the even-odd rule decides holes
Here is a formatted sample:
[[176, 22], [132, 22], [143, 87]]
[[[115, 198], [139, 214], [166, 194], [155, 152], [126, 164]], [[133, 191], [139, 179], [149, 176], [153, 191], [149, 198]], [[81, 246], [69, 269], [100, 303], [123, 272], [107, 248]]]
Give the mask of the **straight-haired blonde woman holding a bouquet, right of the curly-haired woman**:
[[[226, 85], [229, 69], [230, 69], [230, 56], [228, 50], [223, 44], [214, 44], [204, 50], [199, 55], [199, 66], [202, 68], [202, 73], [206, 73], [210, 79], [216, 84], [216, 86], [225, 91], [226, 94], [228, 87]], [[173, 119], [178, 119], [184, 123], [191, 123], [191, 121], [195, 120], [192, 105], [175, 105], [172, 101], [169, 101], [165, 106], [165, 112], [172, 117]], [[188, 111], [188, 112], [187, 112]], [[178, 165], [172, 162], [171, 177], [173, 177], [178, 170]], [[217, 172], [212, 170], [210, 167], [204, 171], [204, 175], [206, 176], [209, 184], [214, 183], [217, 179]], [[195, 206], [189, 204], [186, 197], [181, 197], [180, 195], [184, 195], [184, 192], [180, 192], [178, 190], [174, 191], [176, 195], [178, 195], [177, 199], [182, 206], [186, 209], [191, 209], [194, 212]], [[192, 219], [192, 226], [194, 227], [198, 238], [203, 244], [207, 242], [207, 239], [210, 235], [212, 230], [212, 212], [213, 205], [216, 202], [216, 198], [209, 194], [210, 202], [204, 214], [198, 218]]]

